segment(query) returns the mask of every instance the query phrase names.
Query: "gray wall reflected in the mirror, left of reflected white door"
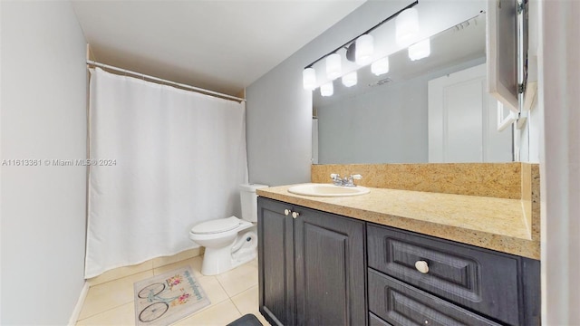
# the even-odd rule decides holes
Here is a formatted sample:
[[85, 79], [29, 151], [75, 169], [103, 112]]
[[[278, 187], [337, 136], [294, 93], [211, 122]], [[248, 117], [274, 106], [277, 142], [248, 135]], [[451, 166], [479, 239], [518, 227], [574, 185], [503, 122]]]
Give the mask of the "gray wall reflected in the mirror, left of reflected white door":
[[319, 163], [427, 163], [428, 82], [484, 62], [462, 62], [317, 107]]

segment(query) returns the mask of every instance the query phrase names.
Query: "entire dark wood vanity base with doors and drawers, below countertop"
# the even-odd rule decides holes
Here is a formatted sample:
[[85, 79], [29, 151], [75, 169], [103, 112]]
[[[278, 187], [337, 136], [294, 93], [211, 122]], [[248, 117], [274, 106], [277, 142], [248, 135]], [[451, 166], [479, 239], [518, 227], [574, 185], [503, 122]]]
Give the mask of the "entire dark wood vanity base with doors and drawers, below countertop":
[[539, 261], [265, 197], [258, 264], [273, 325], [540, 324]]

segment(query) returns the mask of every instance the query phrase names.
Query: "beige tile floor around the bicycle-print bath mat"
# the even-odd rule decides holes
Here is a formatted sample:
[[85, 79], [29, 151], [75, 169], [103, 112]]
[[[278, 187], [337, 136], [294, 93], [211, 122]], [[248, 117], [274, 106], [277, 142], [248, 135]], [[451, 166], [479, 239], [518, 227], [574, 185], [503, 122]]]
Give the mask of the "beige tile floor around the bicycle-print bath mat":
[[211, 304], [174, 325], [226, 325], [253, 313], [266, 326], [258, 312], [257, 260], [216, 276], [200, 273], [202, 256], [189, 258], [119, 279], [93, 284], [82, 305], [76, 325], [134, 325], [133, 283], [153, 275], [189, 265], [208, 294]]

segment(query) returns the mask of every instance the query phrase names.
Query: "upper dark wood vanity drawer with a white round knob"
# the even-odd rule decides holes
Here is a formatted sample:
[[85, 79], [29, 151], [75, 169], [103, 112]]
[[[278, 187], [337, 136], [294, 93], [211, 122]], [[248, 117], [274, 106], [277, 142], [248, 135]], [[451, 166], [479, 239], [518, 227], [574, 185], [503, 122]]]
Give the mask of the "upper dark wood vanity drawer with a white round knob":
[[369, 267], [499, 321], [523, 322], [517, 256], [380, 225], [368, 225], [367, 239]]

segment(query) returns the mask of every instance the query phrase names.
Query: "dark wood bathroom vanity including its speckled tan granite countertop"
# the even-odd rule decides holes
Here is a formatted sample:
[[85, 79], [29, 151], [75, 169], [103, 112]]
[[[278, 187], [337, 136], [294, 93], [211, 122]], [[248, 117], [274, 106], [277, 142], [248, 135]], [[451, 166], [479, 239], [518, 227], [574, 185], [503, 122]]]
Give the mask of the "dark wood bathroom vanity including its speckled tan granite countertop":
[[520, 200], [259, 190], [259, 310], [273, 325], [537, 325]]

